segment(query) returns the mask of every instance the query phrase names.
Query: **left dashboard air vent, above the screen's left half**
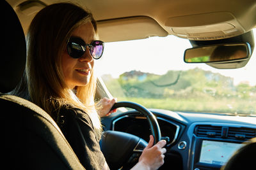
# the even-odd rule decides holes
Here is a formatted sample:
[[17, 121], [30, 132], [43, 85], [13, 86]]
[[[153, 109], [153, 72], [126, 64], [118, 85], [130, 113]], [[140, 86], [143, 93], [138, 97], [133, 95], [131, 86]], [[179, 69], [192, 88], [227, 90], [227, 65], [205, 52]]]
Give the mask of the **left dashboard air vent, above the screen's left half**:
[[212, 125], [197, 125], [195, 134], [198, 137], [221, 138], [221, 127]]

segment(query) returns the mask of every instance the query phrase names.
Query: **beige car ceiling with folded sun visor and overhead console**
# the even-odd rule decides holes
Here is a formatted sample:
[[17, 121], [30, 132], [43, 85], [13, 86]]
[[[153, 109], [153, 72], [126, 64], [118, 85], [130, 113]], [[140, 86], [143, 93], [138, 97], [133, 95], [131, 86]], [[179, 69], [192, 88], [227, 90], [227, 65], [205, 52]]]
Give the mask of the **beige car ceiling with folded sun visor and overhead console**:
[[[65, 1], [7, 0], [26, 33], [36, 12]], [[256, 27], [255, 0], [76, 0], [98, 21], [102, 41], [173, 34], [193, 40], [223, 39]]]

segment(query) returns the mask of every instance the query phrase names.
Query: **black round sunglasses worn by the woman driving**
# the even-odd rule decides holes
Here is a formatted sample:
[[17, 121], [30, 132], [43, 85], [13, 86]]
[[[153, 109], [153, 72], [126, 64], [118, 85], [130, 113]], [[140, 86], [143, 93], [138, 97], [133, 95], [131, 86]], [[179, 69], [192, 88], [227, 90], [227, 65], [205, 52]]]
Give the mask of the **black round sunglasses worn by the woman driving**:
[[93, 59], [100, 59], [104, 50], [104, 42], [95, 40], [90, 44], [84, 43], [84, 40], [78, 37], [70, 37], [67, 43], [68, 55], [74, 59], [79, 59], [83, 56], [88, 46]]

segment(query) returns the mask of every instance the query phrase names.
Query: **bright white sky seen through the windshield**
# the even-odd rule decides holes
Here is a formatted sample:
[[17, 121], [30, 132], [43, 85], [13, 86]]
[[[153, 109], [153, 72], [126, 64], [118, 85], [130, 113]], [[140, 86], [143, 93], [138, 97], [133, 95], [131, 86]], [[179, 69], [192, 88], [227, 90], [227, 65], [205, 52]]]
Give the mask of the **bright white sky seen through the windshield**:
[[[256, 40], [256, 29], [253, 33]], [[175, 36], [105, 43], [104, 54], [102, 58], [95, 60], [95, 67], [99, 76], [111, 74], [113, 78], [118, 78], [120, 74], [131, 70], [165, 74], [168, 70], [188, 70], [199, 67], [230, 76], [234, 78], [235, 85], [244, 81], [250, 85], [256, 85], [256, 52], [252, 53], [248, 64], [242, 68], [215, 69], [207, 64], [185, 63], [183, 55], [187, 48], [191, 48], [188, 39]]]

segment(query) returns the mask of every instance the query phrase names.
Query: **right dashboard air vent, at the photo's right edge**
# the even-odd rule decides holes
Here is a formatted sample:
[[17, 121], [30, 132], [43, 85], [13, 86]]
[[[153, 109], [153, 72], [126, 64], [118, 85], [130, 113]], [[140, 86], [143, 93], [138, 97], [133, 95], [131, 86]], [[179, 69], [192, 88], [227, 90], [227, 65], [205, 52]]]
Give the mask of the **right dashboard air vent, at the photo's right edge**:
[[256, 137], [256, 129], [237, 128], [237, 127], [230, 127], [228, 129], [228, 137], [227, 137], [228, 139], [249, 140], [255, 137]]

